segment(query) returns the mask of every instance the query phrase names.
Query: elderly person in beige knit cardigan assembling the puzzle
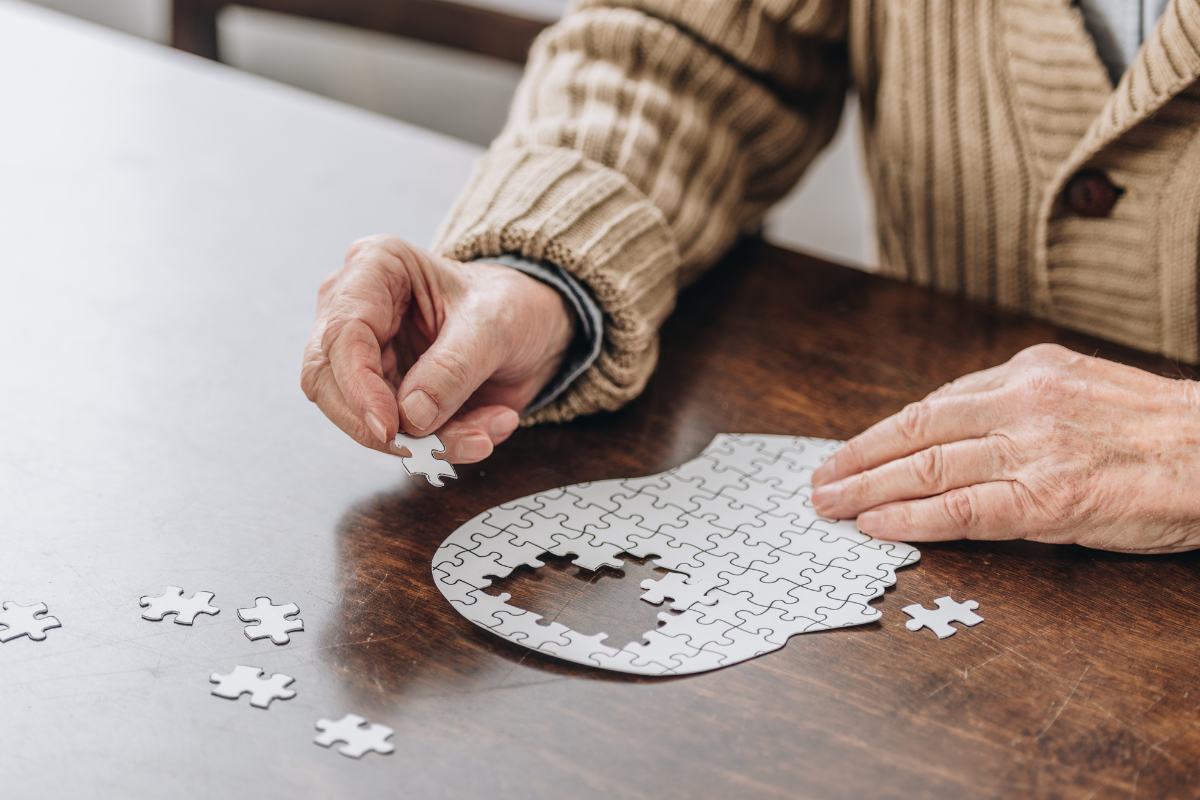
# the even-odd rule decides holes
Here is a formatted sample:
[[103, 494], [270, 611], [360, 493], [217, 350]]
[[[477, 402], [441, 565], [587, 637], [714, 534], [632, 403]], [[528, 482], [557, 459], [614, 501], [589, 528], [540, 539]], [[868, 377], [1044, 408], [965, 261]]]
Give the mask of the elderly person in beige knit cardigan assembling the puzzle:
[[[322, 287], [304, 387], [360, 444], [614, 409], [676, 293], [799, 179], [848, 88], [884, 275], [1195, 362], [1200, 0], [582, 0], [431, 251]], [[812, 479], [882, 539], [1200, 546], [1200, 392], [1039, 345]]]

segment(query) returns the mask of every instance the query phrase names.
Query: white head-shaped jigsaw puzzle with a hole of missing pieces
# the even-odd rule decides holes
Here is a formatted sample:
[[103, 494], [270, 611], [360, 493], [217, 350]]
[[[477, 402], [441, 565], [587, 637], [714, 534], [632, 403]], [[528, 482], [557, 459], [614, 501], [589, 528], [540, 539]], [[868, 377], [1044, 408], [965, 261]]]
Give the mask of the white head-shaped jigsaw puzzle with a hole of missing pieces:
[[[779, 435], [716, 437], [695, 459], [647, 477], [578, 483], [491, 509], [454, 531], [433, 557], [442, 594], [504, 638], [577, 663], [646, 675], [725, 667], [784, 646], [788, 637], [871, 622], [870, 601], [920, 558], [812, 510], [810, 477], [841, 445]], [[588, 570], [619, 555], [671, 570], [643, 582], [642, 600], [677, 614], [644, 642], [605, 642], [484, 591], [492, 578], [544, 553]]]

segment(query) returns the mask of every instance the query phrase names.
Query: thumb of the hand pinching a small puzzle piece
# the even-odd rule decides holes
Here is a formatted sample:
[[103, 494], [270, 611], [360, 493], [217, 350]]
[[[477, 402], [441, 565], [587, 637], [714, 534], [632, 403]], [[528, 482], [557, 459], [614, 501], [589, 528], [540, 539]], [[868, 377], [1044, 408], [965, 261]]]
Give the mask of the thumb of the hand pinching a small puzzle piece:
[[414, 435], [437, 431], [502, 360], [498, 341], [469, 324], [449, 321], [400, 383], [400, 425]]

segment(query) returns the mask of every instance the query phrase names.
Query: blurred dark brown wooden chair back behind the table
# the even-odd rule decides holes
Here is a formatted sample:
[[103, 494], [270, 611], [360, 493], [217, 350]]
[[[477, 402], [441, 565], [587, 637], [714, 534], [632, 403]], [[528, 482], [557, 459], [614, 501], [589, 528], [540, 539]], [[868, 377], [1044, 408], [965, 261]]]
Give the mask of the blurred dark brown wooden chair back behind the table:
[[173, 0], [172, 43], [218, 60], [217, 14], [226, 6], [277, 11], [366, 28], [524, 64], [548, 23], [446, 0]]

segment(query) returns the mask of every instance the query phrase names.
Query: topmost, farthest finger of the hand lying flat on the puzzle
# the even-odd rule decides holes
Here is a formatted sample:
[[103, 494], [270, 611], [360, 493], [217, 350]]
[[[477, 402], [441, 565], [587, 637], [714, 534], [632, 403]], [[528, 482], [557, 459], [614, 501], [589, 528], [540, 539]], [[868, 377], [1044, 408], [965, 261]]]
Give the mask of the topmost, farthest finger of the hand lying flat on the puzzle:
[[978, 439], [1006, 421], [989, 393], [966, 393], [906, 405], [854, 437], [812, 474], [821, 487], [934, 445]]

